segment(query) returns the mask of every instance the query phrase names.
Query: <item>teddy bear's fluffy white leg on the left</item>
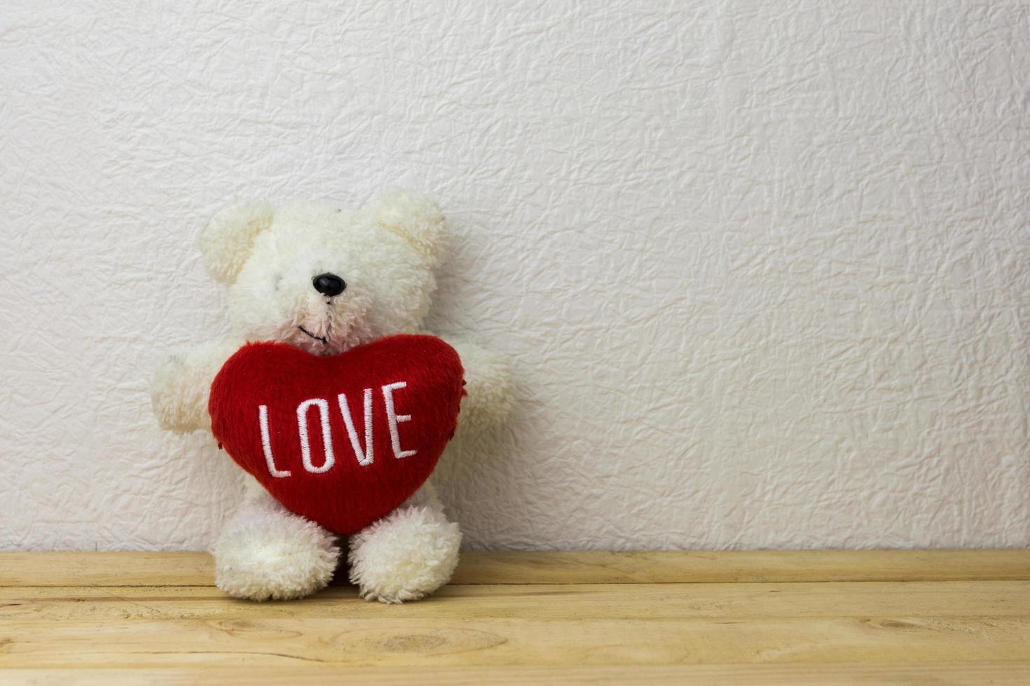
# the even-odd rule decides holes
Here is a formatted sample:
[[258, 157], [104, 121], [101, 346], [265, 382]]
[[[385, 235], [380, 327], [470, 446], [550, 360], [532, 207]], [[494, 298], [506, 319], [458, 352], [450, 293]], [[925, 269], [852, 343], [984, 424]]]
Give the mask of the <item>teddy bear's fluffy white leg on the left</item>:
[[251, 601], [289, 600], [320, 590], [340, 557], [333, 534], [286, 511], [256, 482], [211, 552], [218, 588]]

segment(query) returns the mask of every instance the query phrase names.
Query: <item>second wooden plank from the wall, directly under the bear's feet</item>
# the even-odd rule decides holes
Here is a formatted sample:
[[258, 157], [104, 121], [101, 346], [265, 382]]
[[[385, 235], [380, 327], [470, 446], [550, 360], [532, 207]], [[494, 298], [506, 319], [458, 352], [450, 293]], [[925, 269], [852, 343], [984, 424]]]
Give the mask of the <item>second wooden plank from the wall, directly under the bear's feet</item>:
[[447, 586], [419, 603], [367, 603], [351, 587], [248, 603], [211, 587], [0, 588], [0, 622], [127, 619], [697, 619], [1030, 617], [1030, 581]]

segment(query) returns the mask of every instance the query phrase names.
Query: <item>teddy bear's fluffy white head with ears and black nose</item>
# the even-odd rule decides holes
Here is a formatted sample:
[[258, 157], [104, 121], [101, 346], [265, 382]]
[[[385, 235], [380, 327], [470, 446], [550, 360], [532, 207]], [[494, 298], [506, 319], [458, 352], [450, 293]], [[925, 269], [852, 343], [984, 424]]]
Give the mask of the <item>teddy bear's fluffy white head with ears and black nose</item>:
[[443, 229], [436, 204], [401, 192], [357, 211], [258, 202], [215, 215], [201, 250], [246, 339], [336, 355], [420, 327]]

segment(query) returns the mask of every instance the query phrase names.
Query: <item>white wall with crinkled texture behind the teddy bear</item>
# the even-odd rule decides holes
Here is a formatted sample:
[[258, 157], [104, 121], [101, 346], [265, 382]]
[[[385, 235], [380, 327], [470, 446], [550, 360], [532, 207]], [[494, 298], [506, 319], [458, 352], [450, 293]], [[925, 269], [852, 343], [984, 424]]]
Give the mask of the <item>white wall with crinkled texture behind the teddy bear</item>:
[[392, 184], [518, 376], [442, 468], [470, 545], [1030, 544], [1025, 2], [47, 4], [0, 6], [0, 546], [204, 546], [235, 467], [146, 394], [224, 330], [200, 226]]

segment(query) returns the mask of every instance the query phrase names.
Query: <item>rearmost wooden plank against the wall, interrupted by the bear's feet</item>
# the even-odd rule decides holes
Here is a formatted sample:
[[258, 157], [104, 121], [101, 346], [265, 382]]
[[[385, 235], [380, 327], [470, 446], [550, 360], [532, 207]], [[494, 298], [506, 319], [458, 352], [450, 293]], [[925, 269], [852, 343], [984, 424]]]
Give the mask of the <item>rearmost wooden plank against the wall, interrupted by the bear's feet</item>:
[[[1030, 550], [466, 552], [456, 584], [1030, 580]], [[213, 582], [201, 552], [0, 552], [0, 586]]]

